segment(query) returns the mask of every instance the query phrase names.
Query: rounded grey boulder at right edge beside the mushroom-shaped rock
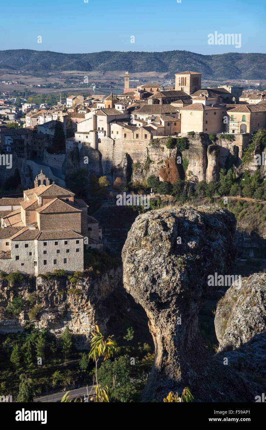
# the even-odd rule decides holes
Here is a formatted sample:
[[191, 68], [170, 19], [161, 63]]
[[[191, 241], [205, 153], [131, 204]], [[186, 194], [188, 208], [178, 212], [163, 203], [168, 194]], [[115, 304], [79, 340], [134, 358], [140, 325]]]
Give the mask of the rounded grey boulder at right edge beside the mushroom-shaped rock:
[[235, 350], [266, 332], [266, 274], [254, 273], [241, 285], [233, 283], [217, 304], [214, 322], [218, 351]]

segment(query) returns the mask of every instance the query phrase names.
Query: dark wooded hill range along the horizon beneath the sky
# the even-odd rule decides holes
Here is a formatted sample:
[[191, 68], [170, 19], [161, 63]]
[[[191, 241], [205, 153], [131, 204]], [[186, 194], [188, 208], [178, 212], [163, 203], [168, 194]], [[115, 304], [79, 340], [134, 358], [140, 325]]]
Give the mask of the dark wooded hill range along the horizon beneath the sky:
[[0, 51], [0, 68], [19, 71], [82, 70], [135, 72], [177, 71], [201, 72], [203, 78], [265, 79], [266, 54], [238, 53], [201, 55], [190, 51], [118, 52], [102, 51], [87, 54], [64, 54], [32, 49]]

